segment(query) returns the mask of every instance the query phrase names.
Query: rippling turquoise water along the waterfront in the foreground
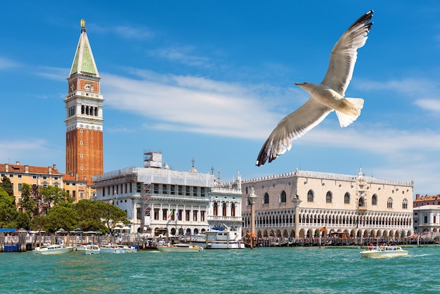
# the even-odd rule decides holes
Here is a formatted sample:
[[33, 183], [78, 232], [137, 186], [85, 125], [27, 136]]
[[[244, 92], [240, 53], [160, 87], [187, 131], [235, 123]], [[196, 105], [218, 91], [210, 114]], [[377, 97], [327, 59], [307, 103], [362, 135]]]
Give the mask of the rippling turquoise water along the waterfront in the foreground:
[[1, 293], [439, 293], [440, 248], [362, 258], [359, 248], [0, 254]]

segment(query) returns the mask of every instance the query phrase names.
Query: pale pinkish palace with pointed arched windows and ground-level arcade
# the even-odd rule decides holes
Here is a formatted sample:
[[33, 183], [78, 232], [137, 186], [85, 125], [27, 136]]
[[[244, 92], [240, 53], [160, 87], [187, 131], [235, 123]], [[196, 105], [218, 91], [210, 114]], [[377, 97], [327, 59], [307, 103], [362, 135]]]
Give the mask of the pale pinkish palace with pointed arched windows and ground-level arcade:
[[[260, 237], [310, 238], [320, 229], [324, 235], [339, 233], [365, 238], [400, 238], [413, 234], [412, 181], [365, 177], [361, 170], [354, 176], [296, 170], [245, 179], [242, 181], [244, 233], [250, 232], [251, 208], [247, 196], [252, 186], [258, 196], [254, 204], [255, 233]], [[292, 198], [298, 199], [292, 202]]]

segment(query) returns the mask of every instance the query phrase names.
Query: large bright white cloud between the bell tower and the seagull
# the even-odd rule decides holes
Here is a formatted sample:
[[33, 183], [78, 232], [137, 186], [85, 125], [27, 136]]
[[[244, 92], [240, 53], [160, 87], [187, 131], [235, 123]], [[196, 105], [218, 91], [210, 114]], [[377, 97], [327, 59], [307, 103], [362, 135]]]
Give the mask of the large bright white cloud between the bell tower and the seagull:
[[157, 129], [261, 139], [283, 115], [265, 106], [261, 91], [273, 95], [292, 94], [291, 89], [260, 89], [216, 82], [200, 77], [156, 75], [136, 80], [105, 74], [103, 89], [108, 106], [142, 115]]

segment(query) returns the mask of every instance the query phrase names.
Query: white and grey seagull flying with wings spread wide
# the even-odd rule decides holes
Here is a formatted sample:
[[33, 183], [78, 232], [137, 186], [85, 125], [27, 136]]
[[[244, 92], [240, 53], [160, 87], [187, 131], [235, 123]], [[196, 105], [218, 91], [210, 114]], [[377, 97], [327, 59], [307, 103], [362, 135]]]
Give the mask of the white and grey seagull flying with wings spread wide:
[[362, 98], [344, 98], [357, 58], [357, 49], [367, 41], [373, 23], [373, 11], [368, 11], [342, 34], [330, 53], [330, 64], [321, 84], [295, 83], [311, 94], [303, 106], [283, 118], [266, 140], [257, 158], [257, 166], [272, 162], [290, 150], [292, 140], [309, 132], [336, 110], [341, 127], [347, 127], [361, 114]]

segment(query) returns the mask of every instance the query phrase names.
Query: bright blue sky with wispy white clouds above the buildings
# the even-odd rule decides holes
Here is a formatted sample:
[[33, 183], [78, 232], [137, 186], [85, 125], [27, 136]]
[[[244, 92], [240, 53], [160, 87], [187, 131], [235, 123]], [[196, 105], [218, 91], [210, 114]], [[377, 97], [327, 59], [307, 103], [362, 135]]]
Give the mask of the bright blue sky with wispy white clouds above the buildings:
[[[0, 162], [65, 172], [67, 75], [86, 30], [101, 75], [104, 170], [162, 151], [174, 170], [222, 181], [299, 170], [415, 181], [440, 193], [439, 1], [7, 1], [0, 31]], [[270, 165], [257, 155], [278, 121], [321, 82], [332, 46], [375, 11], [346, 96]]]

